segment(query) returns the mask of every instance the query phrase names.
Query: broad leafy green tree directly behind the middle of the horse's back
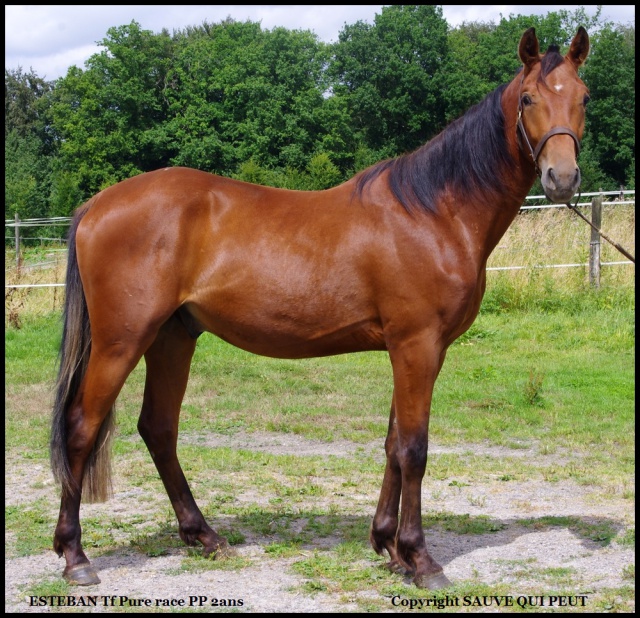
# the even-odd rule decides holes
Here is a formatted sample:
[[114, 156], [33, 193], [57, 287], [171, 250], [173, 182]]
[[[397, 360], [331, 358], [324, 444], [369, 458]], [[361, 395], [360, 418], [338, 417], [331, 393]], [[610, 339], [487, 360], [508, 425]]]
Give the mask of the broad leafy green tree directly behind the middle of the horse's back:
[[171, 100], [173, 162], [230, 174], [251, 159], [303, 170], [319, 150], [344, 157], [329, 139], [339, 117], [323, 98], [326, 45], [309, 31], [225, 20], [180, 40]]

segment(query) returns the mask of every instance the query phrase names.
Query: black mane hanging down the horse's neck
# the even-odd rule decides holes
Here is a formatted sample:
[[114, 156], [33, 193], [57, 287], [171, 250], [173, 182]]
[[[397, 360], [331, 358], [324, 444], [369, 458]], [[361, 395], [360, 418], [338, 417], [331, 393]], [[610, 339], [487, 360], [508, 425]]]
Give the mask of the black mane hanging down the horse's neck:
[[418, 150], [361, 172], [356, 192], [362, 195], [370, 182], [389, 170], [389, 186], [409, 213], [435, 213], [438, 195], [447, 186], [464, 193], [494, 189], [496, 172], [510, 159], [500, 100], [505, 88], [503, 84], [490, 92]]

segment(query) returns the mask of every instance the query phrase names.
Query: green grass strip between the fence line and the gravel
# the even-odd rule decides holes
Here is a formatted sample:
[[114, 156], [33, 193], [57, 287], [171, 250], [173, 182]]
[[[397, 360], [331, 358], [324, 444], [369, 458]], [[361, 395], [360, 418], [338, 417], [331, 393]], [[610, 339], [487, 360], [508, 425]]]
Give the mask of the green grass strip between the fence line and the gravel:
[[[631, 305], [481, 314], [449, 350], [436, 383], [431, 438], [510, 448], [542, 441], [547, 452], [587, 456], [581, 471], [564, 474], [620, 483], [632, 470], [633, 319]], [[6, 445], [33, 457], [46, 456], [49, 419], [31, 409], [32, 392], [50, 396], [59, 322], [56, 313], [24, 318], [21, 329], [5, 332]], [[125, 443], [137, 435], [143, 384], [141, 363], [120, 397], [118, 434]], [[277, 360], [205, 334], [192, 363], [181, 431], [282, 432], [365, 444], [386, 434], [391, 388], [385, 353]]]

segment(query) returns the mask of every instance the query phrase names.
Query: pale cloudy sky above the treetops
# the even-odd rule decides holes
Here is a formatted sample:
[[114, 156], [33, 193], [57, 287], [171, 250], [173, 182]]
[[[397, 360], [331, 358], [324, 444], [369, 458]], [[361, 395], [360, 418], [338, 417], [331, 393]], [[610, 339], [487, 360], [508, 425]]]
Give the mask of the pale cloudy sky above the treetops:
[[[373, 23], [383, 5], [5, 5], [5, 68], [53, 80], [76, 65], [84, 68], [89, 56], [100, 51], [96, 41], [107, 29], [137, 21], [144, 30], [169, 32], [197, 26], [205, 20], [215, 23], [227, 16], [238, 21], [259, 21], [263, 28], [284, 26], [290, 30], [312, 30], [326, 42], [336, 41], [345, 23], [358, 20]], [[500, 15], [546, 14], [579, 5], [443, 5], [450, 26], [463, 21], [498, 22]], [[596, 5], [584, 6], [594, 15]], [[602, 16], [616, 23], [635, 25], [635, 6], [604, 6]]]

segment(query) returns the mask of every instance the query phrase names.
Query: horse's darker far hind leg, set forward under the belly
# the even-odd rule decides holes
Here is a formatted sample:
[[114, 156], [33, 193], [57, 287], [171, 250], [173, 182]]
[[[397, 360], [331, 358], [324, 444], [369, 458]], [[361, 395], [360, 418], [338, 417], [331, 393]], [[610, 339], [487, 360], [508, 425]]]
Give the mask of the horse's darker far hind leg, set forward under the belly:
[[227, 553], [228, 544], [205, 521], [193, 499], [176, 454], [180, 405], [187, 387], [196, 340], [173, 315], [145, 353], [147, 378], [138, 431], [160, 473], [178, 517], [180, 538], [204, 545], [204, 555]]

